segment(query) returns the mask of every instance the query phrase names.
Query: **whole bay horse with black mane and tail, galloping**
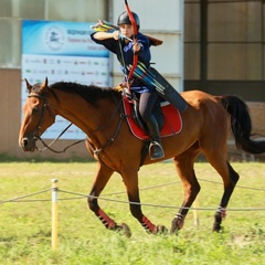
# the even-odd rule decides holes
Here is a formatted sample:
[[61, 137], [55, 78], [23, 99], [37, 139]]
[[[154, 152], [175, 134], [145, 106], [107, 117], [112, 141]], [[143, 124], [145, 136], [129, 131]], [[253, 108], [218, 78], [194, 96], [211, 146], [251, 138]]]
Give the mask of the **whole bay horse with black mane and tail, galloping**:
[[[118, 172], [125, 183], [130, 212], [148, 233], [166, 232], [163, 225], [153, 224], [141, 211], [138, 171], [141, 167], [144, 141], [135, 137], [125, 118], [123, 95], [113, 89], [59, 82], [49, 86], [47, 78], [31, 85], [23, 106], [23, 120], [19, 145], [24, 151], [34, 151], [35, 141], [61, 115], [75, 124], [86, 135], [86, 148], [97, 160], [92, 190], [87, 199], [89, 209], [108, 230], [123, 231], [130, 235], [129, 227], [107, 215], [97, 198], [112, 174]], [[265, 152], [265, 141], [252, 139], [252, 120], [246, 104], [236, 96], [213, 96], [201, 91], [183, 92], [188, 108], [181, 114], [182, 130], [162, 138], [165, 158], [150, 160], [146, 156], [142, 165], [172, 158], [184, 189], [184, 199], [171, 222], [170, 233], [183, 227], [186, 215], [200, 191], [194, 172], [194, 160], [204, 153], [210, 165], [223, 180], [223, 195], [214, 214], [213, 231], [221, 230], [225, 209], [240, 176], [227, 160], [226, 141], [232, 129], [235, 145], [248, 153]]]

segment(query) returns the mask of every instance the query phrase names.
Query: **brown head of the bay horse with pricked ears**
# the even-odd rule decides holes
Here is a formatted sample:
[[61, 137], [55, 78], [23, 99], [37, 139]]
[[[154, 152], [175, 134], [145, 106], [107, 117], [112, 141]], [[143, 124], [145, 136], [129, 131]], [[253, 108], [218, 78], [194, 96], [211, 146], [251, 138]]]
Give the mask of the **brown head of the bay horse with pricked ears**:
[[25, 84], [29, 95], [23, 106], [19, 145], [24, 151], [34, 151], [35, 141], [54, 123], [55, 114], [47, 102], [47, 78], [33, 86], [25, 80]]

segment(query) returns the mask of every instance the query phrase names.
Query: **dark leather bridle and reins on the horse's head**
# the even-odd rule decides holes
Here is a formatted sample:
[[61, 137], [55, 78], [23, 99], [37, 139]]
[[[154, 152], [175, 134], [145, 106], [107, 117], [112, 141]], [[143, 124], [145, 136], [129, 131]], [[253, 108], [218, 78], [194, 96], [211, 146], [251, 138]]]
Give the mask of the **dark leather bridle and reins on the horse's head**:
[[55, 150], [55, 149], [53, 149], [51, 146], [53, 145], [53, 144], [55, 144], [60, 138], [61, 138], [61, 136], [73, 125], [73, 124], [70, 124], [52, 142], [50, 142], [49, 145], [41, 138], [41, 136], [40, 136], [40, 130], [41, 130], [41, 128], [42, 128], [42, 124], [43, 124], [43, 120], [44, 120], [44, 116], [45, 116], [45, 110], [47, 110], [49, 113], [50, 113], [50, 115], [52, 115], [51, 114], [51, 110], [50, 110], [50, 107], [49, 107], [49, 103], [47, 103], [47, 98], [46, 98], [46, 96], [44, 96], [44, 95], [40, 95], [40, 94], [30, 94], [28, 97], [38, 97], [38, 98], [41, 98], [42, 100], [43, 100], [43, 105], [42, 105], [42, 109], [41, 109], [41, 119], [40, 119], [40, 123], [39, 123], [39, 126], [38, 126], [38, 128], [33, 131], [33, 140], [34, 141], [38, 141], [38, 140], [40, 140], [41, 142], [42, 142], [42, 145], [44, 146], [44, 148], [39, 148], [38, 146], [36, 146], [36, 150], [38, 151], [45, 151], [46, 149], [49, 149], [50, 151], [53, 151], [53, 152], [55, 152], [55, 153], [62, 153], [62, 152], [65, 152], [70, 147], [72, 147], [72, 146], [75, 146], [75, 145], [77, 145], [77, 144], [80, 144], [80, 142], [82, 142], [82, 141], [84, 141], [85, 139], [82, 139], [82, 140], [77, 140], [77, 141], [75, 141], [75, 142], [73, 142], [73, 144], [71, 144], [71, 145], [68, 145], [67, 147], [65, 147], [63, 150], [61, 150], [61, 151], [57, 151], [57, 150]]

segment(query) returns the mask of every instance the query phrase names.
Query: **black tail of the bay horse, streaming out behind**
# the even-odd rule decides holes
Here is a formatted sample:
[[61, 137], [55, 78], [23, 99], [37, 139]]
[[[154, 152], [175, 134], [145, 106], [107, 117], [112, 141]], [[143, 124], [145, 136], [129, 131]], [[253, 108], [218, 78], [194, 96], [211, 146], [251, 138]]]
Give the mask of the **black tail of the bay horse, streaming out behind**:
[[231, 116], [235, 146], [248, 153], [265, 152], [265, 140], [253, 140], [252, 119], [246, 104], [236, 96], [221, 96], [221, 103]]

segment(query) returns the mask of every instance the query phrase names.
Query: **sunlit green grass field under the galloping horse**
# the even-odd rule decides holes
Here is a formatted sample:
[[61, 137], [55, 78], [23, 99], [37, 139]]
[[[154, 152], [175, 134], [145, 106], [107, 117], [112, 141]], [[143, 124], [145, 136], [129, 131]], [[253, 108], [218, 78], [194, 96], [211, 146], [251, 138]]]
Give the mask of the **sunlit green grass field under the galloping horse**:
[[[241, 179], [222, 233], [211, 232], [222, 181], [209, 163], [201, 162], [195, 165], [201, 184], [200, 225], [194, 226], [191, 210], [178, 236], [147, 234], [130, 215], [123, 181], [114, 174], [102, 197], [118, 202], [99, 200], [99, 204], [117, 223], [130, 226], [132, 235], [127, 239], [107, 231], [82, 197], [89, 192], [94, 162], [0, 162], [0, 264], [265, 264], [265, 165], [232, 166]], [[145, 214], [170, 229], [183, 199], [173, 165], [144, 167], [139, 174]], [[56, 252], [51, 247], [50, 188], [54, 178], [61, 199]], [[26, 194], [34, 195], [6, 202]]]

